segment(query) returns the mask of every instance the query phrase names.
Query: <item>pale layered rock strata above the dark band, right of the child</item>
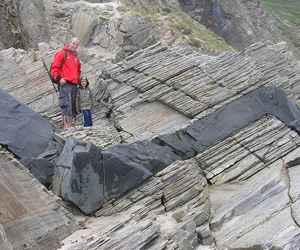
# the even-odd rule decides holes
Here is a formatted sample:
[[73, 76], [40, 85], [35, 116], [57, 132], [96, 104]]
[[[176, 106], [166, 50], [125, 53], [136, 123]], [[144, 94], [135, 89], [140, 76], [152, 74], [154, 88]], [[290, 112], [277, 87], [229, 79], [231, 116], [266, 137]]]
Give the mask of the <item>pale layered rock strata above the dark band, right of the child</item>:
[[186, 127], [264, 85], [299, 104], [299, 81], [299, 67], [284, 43], [257, 43], [217, 57], [158, 43], [107, 67], [95, 90], [130, 143]]

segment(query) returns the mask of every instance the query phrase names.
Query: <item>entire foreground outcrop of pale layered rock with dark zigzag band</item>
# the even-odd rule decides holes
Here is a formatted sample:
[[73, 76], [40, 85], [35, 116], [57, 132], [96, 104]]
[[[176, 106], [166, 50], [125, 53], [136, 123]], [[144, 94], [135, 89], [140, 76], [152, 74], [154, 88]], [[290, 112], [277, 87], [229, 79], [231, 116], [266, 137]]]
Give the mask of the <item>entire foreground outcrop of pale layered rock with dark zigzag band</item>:
[[[299, 248], [300, 69], [285, 43], [203, 55], [143, 43], [146, 19], [137, 37], [131, 18], [109, 18], [105, 37], [97, 4], [44, 2], [66, 20], [57, 35], [71, 25], [82, 36], [94, 126], [78, 117], [59, 132], [41, 60], [50, 65], [53, 41], [0, 52], [1, 249]], [[116, 55], [115, 42], [140, 48], [131, 37], [152, 45], [117, 64], [97, 56], [102, 45]], [[91, 227], [65, 209], [74, 205], [100, 226], [64, 246]]]

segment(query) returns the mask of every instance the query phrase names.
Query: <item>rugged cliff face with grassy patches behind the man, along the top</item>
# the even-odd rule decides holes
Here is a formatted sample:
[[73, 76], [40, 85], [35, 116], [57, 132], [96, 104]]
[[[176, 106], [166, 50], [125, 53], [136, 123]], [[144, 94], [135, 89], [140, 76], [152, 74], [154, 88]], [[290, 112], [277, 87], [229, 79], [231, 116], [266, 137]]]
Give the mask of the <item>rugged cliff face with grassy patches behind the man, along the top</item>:
[[[172, 17], [172, 13], [178, 15], [176, 11], [181, 10], [188, 14], [190, 21], [194, 22], [193, 25], [203, 25], [214, 31], [236, 50], [266, 40], [274, 43], [287, 41], [293, 48], [289, 39], [279, 29], [275, 17], [259, 1], [106, 2], [104, 8], [93, 8], [92, 4], [84, 1], [6, 0], [0, 6], [0, 18], [2, 29], [8, 36], [1, 37], [1, 46], [37, 49], [40, 42], [47, 41], [52, 48], [57, 49], [73, 32], [82, 39], [83, 45], [99, 47], [99, 53], [110, 55], [114, 60], [121, 60], [137, 49], [145, 48], [159, 40], [165, 41], [165, 30], [172, 30], [173, 22], [177, 22], [175, 25], [177, 29], [181, 29], [180, 32], [183, 32], [185, 38], [179, 39], [172, 31], [168, 43], [177, 40], [176, 43], [196, 45], [202, 50], [205, 48], [206, 51], [222, 51], [223, 45], [218, 45], [219, 48], [216, 49], [210, 42], [202, 41], [206, 35], [199, 36], [193, 32], [192, 36], [187, 37], [186, 33], [191, 32], [191, 27], [180, 26], [180, 20], [174, 20]], [[160, 14], [157, 15], [158, 13]], [[82, 26], [80, 30], [74, 28], [79, 27], [79, 24], [72, 23], [75, 15], [82, 16], [78, 19]], [[121, 19], [127, 22], [123, 23]], [[173, 22], [169, 23], [167, 19], [173, 19]], [[73, 27], [72, 30], [70, 27]], [[209, 32], [206, 30], [204, 33]], [[198, 42], [193, 39], [197, 39]], [[200, 45], [200, 41], [204, 44]]]

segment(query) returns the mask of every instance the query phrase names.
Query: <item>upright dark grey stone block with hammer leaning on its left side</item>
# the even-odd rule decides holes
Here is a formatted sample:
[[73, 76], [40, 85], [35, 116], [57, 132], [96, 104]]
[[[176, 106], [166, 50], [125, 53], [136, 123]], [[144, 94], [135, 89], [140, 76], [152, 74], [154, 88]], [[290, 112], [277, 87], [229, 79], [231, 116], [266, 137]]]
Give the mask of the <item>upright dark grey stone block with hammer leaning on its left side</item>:
[[103, 205], [103, 168], [99, 164], [101, 157], [100, 148], [69, 137], [57, 159], [53, 190], [57, 191], [63, 167], [69, 167], [64, 170], [61, 197], [86, 214]]

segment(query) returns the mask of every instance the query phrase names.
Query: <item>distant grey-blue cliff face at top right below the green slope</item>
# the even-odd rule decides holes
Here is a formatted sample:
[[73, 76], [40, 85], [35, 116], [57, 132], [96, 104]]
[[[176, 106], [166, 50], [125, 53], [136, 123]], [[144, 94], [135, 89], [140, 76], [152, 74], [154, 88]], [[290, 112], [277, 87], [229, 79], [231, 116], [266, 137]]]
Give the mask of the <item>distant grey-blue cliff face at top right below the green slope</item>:
[[[141, 9], [144, 7], [140, 1], [132, 2]], [[153, 1], [145, 2], [153, 5]], [[238, 51], [253, 43], [267, 40], [274, 43], [287, 41], [294, 48], [280, 29], [276, 16], [262, 6], [260, 1], [175, 0], [158, 1], [158, 4], [186, 12]], [[288, 23], [287, 20], [285, 22]]]

